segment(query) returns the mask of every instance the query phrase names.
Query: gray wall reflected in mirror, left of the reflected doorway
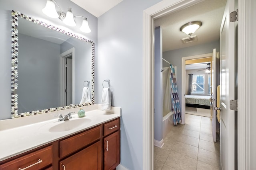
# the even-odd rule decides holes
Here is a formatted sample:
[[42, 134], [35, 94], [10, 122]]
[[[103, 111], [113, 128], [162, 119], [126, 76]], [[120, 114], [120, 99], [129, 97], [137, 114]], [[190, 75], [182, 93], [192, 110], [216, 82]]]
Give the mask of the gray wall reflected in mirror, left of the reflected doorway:
[[21, 33], [18, 39], [18, 113], [58, 107], [60, 45]]

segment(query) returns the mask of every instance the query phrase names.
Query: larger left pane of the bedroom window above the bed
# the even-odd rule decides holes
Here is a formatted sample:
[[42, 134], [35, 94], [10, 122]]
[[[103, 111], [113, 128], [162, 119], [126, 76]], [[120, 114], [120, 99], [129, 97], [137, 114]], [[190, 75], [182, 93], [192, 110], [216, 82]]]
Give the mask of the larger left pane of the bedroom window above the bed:
[[204, 74], [193, 74], [191, 94], [204, 94]]

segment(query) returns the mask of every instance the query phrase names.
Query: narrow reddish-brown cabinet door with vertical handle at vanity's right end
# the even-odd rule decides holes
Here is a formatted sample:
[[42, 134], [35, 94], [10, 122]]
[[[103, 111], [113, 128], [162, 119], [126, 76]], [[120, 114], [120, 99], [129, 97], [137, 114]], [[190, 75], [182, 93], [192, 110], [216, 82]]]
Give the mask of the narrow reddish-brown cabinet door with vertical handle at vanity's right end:
[[113, 170], [120, 164], [120, 131], [104, 138], [104, 170]]

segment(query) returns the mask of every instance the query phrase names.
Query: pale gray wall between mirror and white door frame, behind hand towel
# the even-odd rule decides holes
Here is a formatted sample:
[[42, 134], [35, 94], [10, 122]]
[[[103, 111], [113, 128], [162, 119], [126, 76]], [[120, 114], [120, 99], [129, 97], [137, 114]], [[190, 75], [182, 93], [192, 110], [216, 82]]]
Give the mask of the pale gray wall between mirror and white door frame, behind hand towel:
[[98, 98], [110, 79], [122, 107], [121, 164], [143, 170], [143, 10], [160, 0], [124, 0], [98, 18]]

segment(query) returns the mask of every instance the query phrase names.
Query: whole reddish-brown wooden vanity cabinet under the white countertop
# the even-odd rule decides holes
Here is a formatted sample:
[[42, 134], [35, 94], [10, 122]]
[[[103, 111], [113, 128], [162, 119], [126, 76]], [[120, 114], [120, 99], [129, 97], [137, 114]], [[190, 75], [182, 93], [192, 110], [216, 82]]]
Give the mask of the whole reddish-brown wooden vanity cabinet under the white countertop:
[[0, 162], [0, 170], [114, 170], [120, 163], [120, 118]]

